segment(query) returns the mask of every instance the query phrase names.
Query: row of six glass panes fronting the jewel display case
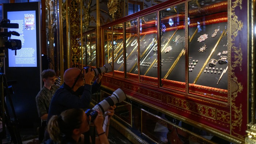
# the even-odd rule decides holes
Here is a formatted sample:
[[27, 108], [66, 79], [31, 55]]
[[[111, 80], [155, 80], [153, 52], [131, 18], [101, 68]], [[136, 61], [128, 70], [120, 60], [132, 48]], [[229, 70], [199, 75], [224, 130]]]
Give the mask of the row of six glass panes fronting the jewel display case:
[[227, 101], [227, 7], [186, 1], [104, 28], [105, 61], [117, 76]]

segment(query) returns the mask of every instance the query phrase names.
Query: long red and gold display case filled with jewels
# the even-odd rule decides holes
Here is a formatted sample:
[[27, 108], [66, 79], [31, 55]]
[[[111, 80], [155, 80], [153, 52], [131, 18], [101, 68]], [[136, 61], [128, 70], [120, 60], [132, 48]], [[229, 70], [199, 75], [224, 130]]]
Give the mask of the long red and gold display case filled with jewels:
[[[169, 0], [103, 25], [104, 60], [113, 65], [103, 85], [240, 143], [247, 124], [247, 6], [231, 0]], [[141, 115], [140, 131], [152, 138], [143, 131], [146, 116]]]

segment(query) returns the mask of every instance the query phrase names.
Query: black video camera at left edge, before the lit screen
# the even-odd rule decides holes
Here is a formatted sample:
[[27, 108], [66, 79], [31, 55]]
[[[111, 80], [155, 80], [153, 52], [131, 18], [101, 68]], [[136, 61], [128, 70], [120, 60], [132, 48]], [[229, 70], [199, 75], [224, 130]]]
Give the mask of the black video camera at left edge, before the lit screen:
[[5, 57], [5, 49], [16, 50], [21, 49], [21, 40], [11, 39], [11, 35], [20, 36], [18, 32], [9, 31], [6, 32], [5, 28], [19, 28], [19, 24], [10, 23], [9, 19], [3, 19], [0, 22], [0, 58]]

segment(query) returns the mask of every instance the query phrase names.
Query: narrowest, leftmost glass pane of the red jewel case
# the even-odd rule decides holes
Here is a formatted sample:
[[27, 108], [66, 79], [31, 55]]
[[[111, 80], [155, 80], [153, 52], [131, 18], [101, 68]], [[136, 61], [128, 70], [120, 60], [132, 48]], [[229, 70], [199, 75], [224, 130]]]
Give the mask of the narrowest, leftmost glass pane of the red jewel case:
[[112, 27], [104, 29], [104, 60], [112, 64]]

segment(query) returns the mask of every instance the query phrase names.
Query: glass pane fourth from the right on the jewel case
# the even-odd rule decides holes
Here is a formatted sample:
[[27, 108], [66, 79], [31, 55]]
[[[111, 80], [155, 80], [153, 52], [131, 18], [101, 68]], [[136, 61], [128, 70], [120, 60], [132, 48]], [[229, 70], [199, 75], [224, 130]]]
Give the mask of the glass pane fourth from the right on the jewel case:
[[[125, 22], [125, 53], [126, 53], [126, 72], [128, 79], [138, 80], [138, 37], [137, 19]], [[135, 75], [133, 75], [135, 74]]]

